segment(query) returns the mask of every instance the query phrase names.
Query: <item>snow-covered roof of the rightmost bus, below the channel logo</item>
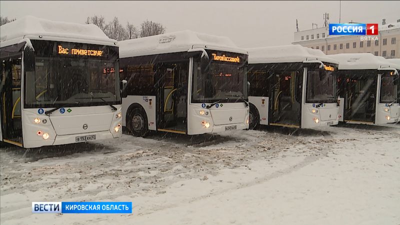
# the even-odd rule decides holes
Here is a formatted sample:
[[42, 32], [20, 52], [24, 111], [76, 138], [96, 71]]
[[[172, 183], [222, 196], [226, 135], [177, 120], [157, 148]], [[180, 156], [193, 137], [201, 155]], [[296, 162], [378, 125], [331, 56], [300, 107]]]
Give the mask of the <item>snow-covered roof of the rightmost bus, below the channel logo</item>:
[[394, 67], [394, 63], [371, 53], [341, 53], [330, 54], [329, 56], [339, 61], [339, 69], [379, 69]]

